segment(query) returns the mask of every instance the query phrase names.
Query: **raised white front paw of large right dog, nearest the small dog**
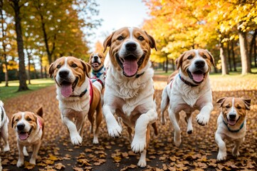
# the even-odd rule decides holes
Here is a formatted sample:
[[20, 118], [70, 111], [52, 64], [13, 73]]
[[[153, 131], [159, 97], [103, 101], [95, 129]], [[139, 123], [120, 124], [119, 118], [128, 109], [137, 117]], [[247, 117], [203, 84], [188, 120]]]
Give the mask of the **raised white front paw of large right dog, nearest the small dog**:
[[211, 110], [213, 110], [214, 106], [212, 103], [206, 103], [203, 108], [201, 108], [200, 113], [196, 115], [196, 120], [199, 125], [207, 125], [210, 119]]

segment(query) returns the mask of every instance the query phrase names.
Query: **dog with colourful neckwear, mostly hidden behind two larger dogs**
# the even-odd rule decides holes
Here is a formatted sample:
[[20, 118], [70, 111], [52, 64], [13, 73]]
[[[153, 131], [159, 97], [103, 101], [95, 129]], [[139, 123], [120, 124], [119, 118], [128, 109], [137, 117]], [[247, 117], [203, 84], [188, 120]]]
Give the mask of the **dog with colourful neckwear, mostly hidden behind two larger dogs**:
[[[101, 83], [102, 88], [105, 87], [105, 54], [104, 53], [91, 53], [89, 64], [92, 68], [90, 79], [93, 83], [98, 81]], [[101, 88], [101, 89], [102, 89]]]

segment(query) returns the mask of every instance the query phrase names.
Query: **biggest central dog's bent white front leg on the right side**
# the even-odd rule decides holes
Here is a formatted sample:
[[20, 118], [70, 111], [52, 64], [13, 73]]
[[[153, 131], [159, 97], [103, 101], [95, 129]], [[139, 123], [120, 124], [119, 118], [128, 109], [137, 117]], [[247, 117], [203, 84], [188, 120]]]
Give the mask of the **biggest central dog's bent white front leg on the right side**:
[[146, 148], [146, 133], [147, 125], [157, 120], [157, 113], [155, 110], [150, 109], [147, 113], [140, 115], [137, 118], [135, 125], [135, 136], [131, 143], [131, 149], [133, 152], [143, 152]]

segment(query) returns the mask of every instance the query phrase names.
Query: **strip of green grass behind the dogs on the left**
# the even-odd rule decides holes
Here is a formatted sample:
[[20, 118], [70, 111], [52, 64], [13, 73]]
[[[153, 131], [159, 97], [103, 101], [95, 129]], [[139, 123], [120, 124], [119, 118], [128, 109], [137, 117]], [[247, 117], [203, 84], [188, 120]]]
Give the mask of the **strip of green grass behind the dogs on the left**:
[[40, 88], [45, 88], [52, 85], [54, 85], [54, 81], [51, 78], [34, 79], [31, 80], [31, 84], [28, 84], [28, 88], [30, 90], [17, 92], [19, 89], [19, 81], [9, 81], [9, 87], [5, 87], [5, 82], [3, 81], [0, 83], [0, 100], [14, 98], [18, 95], [30, 93], [33, 90], [38, 90]]

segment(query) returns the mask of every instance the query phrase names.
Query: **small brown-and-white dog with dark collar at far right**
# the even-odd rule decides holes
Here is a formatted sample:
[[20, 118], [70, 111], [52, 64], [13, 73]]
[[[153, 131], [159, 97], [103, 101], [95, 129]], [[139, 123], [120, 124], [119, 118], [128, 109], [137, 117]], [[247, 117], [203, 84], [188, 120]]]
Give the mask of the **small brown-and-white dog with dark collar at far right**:
[[234, 142], [232, 155], [238, 156], [239, 147], [246, 135], [246, 110], [250, 110], [251, 99], [248, 98], [220, 98], [221, 113], [217, 120], [215, 140], [219, 146], [217, 160], [226, 160], [225, 139]]

